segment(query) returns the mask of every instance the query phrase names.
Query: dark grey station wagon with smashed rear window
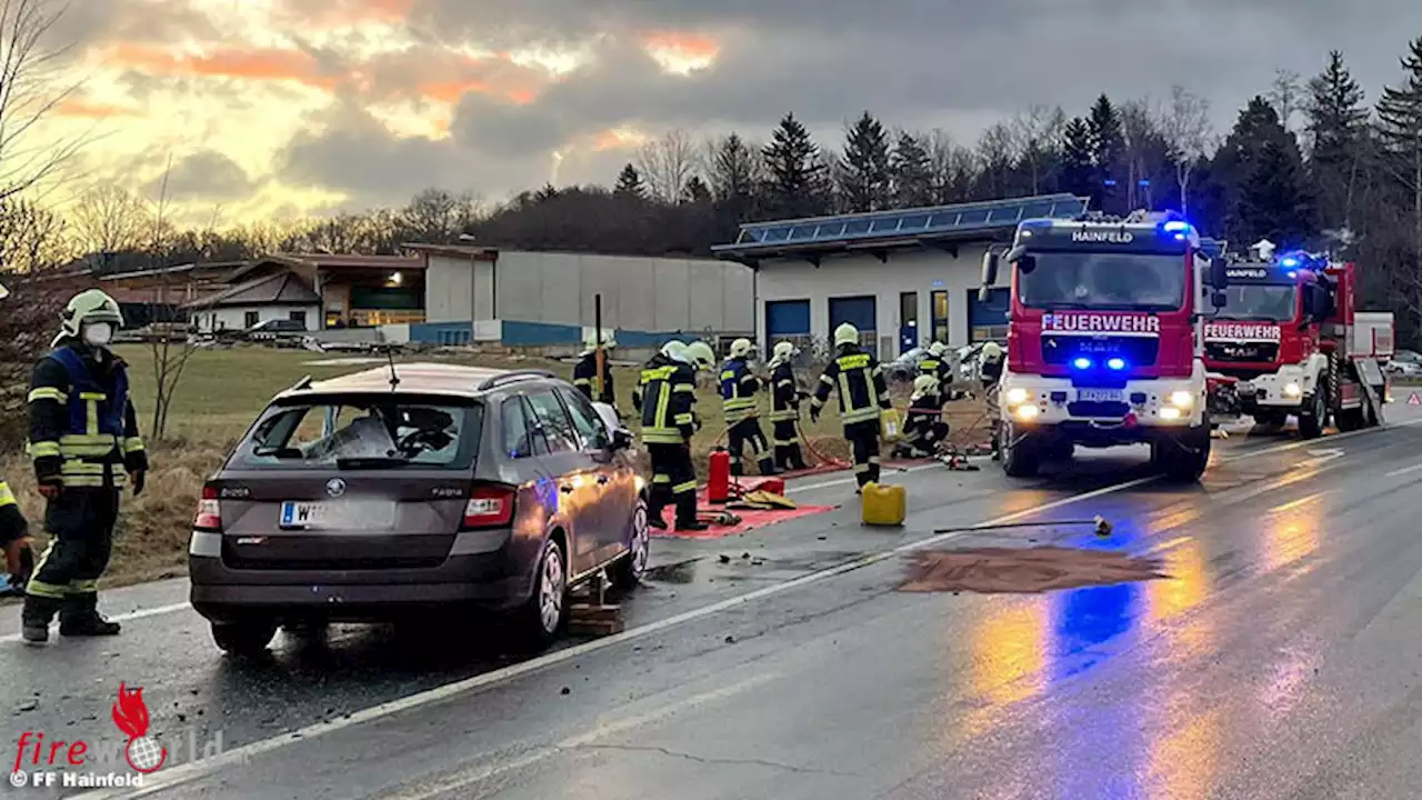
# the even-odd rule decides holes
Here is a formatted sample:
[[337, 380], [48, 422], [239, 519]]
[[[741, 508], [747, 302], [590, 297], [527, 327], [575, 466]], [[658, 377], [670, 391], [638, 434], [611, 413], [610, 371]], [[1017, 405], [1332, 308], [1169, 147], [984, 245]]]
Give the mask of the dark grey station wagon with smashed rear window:
[[228, 652], [266, 649], [279, 625], [461, 604], [543, 646], [570, 588], [604, 569], [640, 579], [648, 488], [616, 413], [547, 372], [304, 379], [203, 487], [192, 605]]

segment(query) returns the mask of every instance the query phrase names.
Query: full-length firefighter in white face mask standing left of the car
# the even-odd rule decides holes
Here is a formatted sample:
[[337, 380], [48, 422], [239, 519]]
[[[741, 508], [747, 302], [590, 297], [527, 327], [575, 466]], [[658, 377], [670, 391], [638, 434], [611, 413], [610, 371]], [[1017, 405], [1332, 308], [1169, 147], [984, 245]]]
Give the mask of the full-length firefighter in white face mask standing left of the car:
[[30, 381], [30, 456], [44, 527], [53, 537], [26, 591], [23, 636], [43, 643], [60, 615], [63, 636], [112, 636], [119, 626], [98, 612], [98, 578], [108, 567], [124, 473], [144, 491], [148, 456], [128, 394], [128, 370], [109, 349], [124, 326], [118, 303], [98, 289], [64, 309], [54, 350]]

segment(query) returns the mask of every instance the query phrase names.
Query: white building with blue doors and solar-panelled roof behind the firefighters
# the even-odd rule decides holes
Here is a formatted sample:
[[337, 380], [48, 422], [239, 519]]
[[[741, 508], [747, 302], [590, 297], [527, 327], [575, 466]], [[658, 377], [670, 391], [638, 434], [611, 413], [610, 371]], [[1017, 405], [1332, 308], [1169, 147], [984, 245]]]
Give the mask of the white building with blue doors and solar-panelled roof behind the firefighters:
[[849, 322], [880, 359], [934, 340], [1007, 339], [1008, 290], [978, 300], [983, 255], [1032, 218], [1071, 219], [1075, 195], [850, 214], [741, 226], [721, 259], [755, 270], [762, 352], [788, 339], [808, 350]]

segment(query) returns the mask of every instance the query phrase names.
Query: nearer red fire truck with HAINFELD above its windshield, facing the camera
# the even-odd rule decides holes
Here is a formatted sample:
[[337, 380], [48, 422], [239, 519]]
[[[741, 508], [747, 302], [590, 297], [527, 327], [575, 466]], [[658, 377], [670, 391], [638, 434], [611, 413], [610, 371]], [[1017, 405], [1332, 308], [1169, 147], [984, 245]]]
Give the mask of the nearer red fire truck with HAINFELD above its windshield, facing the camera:
[[1005, 255], [983, 259], [984, 292], [1011, 266], [1007, 369], [1000, 383], [1003, 468], [1037, 473], [1075, 446], [1150, 444], [1180, 481], [1210, 458], [1203, 313], [1220, 307], [1223, 259], [1173, 215], [1031, 219]]

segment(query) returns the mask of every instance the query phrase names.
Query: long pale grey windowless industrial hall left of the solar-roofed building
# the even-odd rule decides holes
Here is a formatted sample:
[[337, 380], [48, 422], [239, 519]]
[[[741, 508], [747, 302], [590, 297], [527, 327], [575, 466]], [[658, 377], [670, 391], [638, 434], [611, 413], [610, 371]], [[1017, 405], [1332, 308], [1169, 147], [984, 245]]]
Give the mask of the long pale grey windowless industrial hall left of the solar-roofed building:
[[755, 276], [744, 265], [697, 258], [501, 251], [407, 245], [424, 260], [425, 322], [410, 339], [445, 344], [576, 344], [594, 326], [629, 347], [683, 333], [708, 339], [755, 330]]

